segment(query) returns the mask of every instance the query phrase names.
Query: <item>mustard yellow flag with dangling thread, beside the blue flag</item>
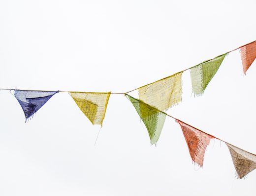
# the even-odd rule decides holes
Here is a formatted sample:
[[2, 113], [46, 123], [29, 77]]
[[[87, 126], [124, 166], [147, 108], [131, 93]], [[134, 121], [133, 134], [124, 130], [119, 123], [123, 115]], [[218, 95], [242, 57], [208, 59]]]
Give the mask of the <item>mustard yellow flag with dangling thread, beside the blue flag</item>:
[[111, 92], [108, 93], [80, 93], [69, 92], [80, 110], [87, 116], [93, 124], [102, 126], [103, 119], [107, 109], [108, 99]]

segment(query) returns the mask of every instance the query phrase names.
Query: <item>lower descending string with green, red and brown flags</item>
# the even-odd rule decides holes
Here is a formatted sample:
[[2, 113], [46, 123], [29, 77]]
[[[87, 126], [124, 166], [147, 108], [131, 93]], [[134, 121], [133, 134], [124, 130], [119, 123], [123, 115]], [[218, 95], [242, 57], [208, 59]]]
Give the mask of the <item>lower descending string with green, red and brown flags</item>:
[[230, 151], [230, 155], [236, 170], [236, 176], [243, 178], [249, 172], [256, 169], [256, 154], [247, 152], [239, 147], [235, 147], [220, 138], [210, 135], [198, 128], [193, 127], [188, 123], [184, 123], [179, 119], [176, 119], [157, 108], [146, 104], [140, 99], [132, 98], [127, 95], [136, 111], [138, 112], [141, 120], [147, 127], [151, 144], [155, 144], [160, 136], [161, 129], [165, 120], [165, 117], [173, 118], [180, 124], [186, 143], [189, 148], [190, 156], [193, 163], [203, 167], [204, 153], [206, 147], [209, 145], [211, 139], [217, 139], [226, 144]]

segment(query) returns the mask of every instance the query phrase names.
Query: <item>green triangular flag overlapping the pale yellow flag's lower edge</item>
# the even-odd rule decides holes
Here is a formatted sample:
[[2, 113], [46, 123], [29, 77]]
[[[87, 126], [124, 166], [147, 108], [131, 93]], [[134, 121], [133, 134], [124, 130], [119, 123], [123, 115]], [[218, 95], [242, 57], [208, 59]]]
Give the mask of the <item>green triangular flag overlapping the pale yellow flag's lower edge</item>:
[[160, 137], [161, 130], [165, 121], [165, 113], [159, 111], [153, 106], [144, 103], [140, 99], [130, 97], [129, 95], [127, 96], [135, 107], [141, 120], [145, 124], [149, 133], [151, 144], [156, 144]]

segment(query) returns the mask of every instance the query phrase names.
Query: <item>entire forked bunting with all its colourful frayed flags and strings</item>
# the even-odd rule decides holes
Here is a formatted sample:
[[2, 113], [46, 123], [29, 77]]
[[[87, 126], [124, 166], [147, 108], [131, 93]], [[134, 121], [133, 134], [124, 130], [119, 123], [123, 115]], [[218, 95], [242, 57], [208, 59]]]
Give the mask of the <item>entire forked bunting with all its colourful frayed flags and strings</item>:
[[[243, 71], [245, 74], [256, 58], [256, 41], [237, 49], [240, 49]], [[256, 154], [247, 152], [239, 147], [235, 147], [165, 113], [166, 110], [179, 104], [182, 100], [183, 72], [190, 70], [192, 91], [195, 95], [202, 95], [207, 85], [220, 68], [224, 58], [228, 53], [234, 50], [236, 49], [126, 93], [16, 89], [1, 90], [10, 90], [12, 95], [18, 100], [24, 111], [26, 122], [30, 120], [34, 114], [56, 93], [65, 92], [74, 99], [77, 106], [91, 121], [91, 123], [98, 124], [100, 126], [102, 126], [105, 117], [110, 95], [123, 94], [130, 100], [142, 122], [145, 124], [152, 145], [156, 144], [160, 137], [166, 116], [171, 117], [181, 126], [193, 163], [198, 164], [202, 168], [206, 147], [209, 145], [211, 139], [218, 139], [224, 142], [229, 149], [236, 170], [236, 176], [238, 178], [243, 178], [249, 172], [256, 169]], [[133, 98], [128, 95], [128, 93], [135, 90], [138, 90], [139, 98]]]

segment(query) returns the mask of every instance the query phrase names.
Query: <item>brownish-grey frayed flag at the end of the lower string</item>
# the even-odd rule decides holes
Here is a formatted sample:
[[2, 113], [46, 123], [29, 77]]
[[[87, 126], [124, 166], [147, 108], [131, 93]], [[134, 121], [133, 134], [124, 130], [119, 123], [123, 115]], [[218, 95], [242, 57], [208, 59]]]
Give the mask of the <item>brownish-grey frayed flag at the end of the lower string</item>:
[[231, 144], [225, 143], [231, 154], [238, 178], [243, 178], [256, 169], [256, 155]]

